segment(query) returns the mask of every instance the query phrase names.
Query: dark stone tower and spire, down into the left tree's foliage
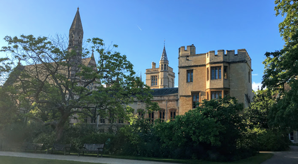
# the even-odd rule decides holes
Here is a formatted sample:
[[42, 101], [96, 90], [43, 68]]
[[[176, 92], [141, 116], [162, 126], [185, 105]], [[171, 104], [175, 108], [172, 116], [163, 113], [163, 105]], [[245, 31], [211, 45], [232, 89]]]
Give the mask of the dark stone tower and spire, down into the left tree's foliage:
[[81, 48], [82, 48], [83, 34], [84, 32], [83, 32], [82, 22], [81, 22], [81, 18], [77, 7], [77, 11], [74, 16], [74, 21], [70, 28], [69, 44], [68, 44], [69, 51], [72, 51], [72, 50], [76, 51], [76, 55], [72, 57], [72, 61], [75, 64], [80, 63], [82, 59]]

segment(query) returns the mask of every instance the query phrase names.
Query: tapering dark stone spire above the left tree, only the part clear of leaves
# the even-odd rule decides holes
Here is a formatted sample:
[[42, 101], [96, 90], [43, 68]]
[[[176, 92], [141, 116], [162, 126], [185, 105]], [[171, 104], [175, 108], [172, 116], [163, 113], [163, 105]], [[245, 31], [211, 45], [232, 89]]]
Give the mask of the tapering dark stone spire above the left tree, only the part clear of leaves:
[[72, 23], [72, 26], [70, 28], [70, 33], [69, 33], [69, 49], [73, 49], [74, 47], [82, 47], [82, 40], [83, 40], [83, 26], [81, 22], [81, 17], [79, 15], [79, 11], [75, 13], [74, 16], [74, 21]]

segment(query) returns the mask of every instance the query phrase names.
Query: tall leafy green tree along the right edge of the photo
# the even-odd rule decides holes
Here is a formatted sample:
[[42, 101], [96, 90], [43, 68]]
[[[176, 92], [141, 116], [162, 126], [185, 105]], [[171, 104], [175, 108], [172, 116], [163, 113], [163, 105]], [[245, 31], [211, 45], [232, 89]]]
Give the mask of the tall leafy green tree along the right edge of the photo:
[[281, 50], [266, 52], [262, 87], [278, 92], [277, 103], [269, 112], [271, 124], [298, 129], [296, 120], [288, 122], [297, 116], [298, 109], [298, 0], [275, 0], [275, 4], [276, 16], [285, 17], [279, 24], [285, 45]]

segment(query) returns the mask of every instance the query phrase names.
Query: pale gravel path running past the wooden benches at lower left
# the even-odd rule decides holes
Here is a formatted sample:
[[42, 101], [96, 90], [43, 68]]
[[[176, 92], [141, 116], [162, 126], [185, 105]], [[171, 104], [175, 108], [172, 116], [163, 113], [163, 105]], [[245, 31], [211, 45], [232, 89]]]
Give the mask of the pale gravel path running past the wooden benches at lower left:
[[114, 158], [96, 158], [96, 157], [85, 157], [85, 156], [64, 156], [64, 155], [52, 155], [52, 154], [35, 154], [35, 153], [23, 153], [23, 152], [1, 152], [0, 156], [13, 156], [13, 157], [28, 157], [28, 158], [41, 158], [51, 160], [67, 160], [67, 161], [79, 161], [89, 163], [103, 163], [103, 164], [169, 164], [162, 162], [152, 161], [139, 161], [139, 160], [125, 160], [125, 159], [114, 159]]

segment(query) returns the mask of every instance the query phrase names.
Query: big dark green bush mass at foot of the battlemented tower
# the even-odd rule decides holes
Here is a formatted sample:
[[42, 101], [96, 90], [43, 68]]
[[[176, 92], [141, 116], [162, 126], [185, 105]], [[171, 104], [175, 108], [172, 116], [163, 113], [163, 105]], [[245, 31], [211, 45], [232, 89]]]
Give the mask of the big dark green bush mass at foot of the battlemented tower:
[[[203, 101], [199, 107], [173, 122], [139, 119], [126, 130], [130, 155], [234, 161], [254, 154], [249, 147], [237, 147], [245, 130], [240, 111], [243, 105], [234, 98]], [[137, 134], [137, 135], [136, 135]]]

